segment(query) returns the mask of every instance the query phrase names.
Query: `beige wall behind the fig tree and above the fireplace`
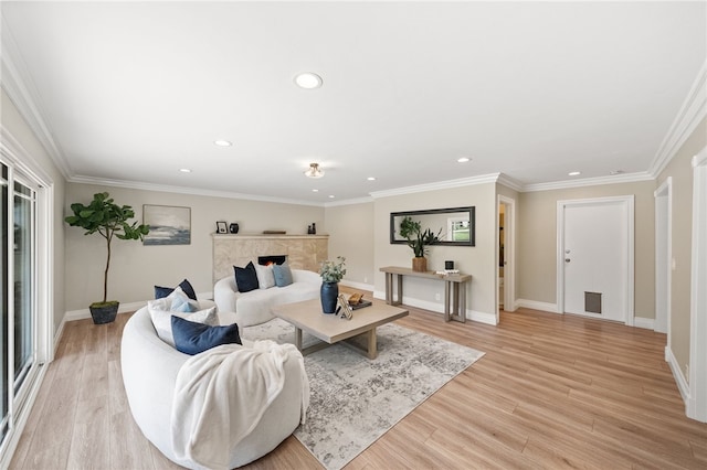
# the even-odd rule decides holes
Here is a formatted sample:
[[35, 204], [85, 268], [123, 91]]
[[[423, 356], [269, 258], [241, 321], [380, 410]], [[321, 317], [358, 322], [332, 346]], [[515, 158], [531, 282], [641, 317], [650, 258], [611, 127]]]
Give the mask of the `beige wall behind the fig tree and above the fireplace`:
[[[212, 237], [217, 221], [238, 222], [240, 234], [257, 234], [265, 229], [284, 229], [288, 234], [306, 234], [307, 225], [317, 224], [324, 234], [324, 207], [262, 201], [231, 200], [190, 194], [175, 194], [93, 184], [70, 183], [66, 189], [65, 215], [71, 204], [87, 204], [94, 193], [107, 191], [117, 204], [130, 205], [143, 221], [143, 204], [191, 207], [191, 244], [143, 246], [135, 241], [114, 241], [108, 280], [108, 298], [140, 302], [154, 298], [154, 286], [175, 286], [187, 278], [194, 290], [211, 292]], [[77, 227], [66, 229], [66, 311], [85, 310], [103, 298], [105, 241], [85, 236]]]

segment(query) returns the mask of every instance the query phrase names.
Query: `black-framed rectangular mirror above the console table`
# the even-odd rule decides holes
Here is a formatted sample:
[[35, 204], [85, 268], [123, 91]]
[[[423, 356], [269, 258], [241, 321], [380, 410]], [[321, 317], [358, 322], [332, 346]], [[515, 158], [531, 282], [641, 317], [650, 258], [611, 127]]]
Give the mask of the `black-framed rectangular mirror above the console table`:
[[404, 244], [408, 241], [400, 235], [400, 223], [405, 217], [420, 222], [422, 229], [440, 232], [440, 245], [475, 246], [475, 206], [431, 209], [426, 211], [405, 211], [390, 213], [390, 243]]

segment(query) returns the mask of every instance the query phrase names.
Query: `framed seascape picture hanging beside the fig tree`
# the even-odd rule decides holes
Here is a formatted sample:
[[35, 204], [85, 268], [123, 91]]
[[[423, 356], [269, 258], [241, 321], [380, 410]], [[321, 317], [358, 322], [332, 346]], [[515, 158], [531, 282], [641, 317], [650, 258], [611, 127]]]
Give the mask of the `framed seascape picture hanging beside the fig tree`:
[[191, 207], [143, 204], [143, 223], [150, 226], [143, 245], [191, 244]]

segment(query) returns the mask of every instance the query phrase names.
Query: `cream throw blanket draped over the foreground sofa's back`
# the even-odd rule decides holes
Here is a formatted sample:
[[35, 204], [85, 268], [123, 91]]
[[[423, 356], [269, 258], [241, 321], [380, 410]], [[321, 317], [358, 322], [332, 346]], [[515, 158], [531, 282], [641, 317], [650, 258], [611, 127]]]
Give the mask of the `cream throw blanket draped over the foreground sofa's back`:
[[302, 403], [293, 406], [300, 406], [304, 424], [309, 382], [302, 354], [293, 344], [225, 344], [189, 359], [175, 389], [171, 435], [176, 456], [211, 469], [228, 468], [232, 448], [255, 428], [282, 392], [288, 359], [296, 359], [302, 370], [306, 389]]

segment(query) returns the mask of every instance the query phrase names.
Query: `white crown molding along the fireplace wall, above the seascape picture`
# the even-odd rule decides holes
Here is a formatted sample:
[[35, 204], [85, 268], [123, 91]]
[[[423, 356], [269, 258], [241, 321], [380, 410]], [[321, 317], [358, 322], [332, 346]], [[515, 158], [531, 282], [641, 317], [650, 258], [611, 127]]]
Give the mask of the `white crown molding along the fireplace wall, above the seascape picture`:
[[213, 190], [204, 190], [200, 188], [170, 186], [166, 184], [152, 184], [152, 183], [145, 183], [140, 181], [108, 180], [104, 178], [83, 177], [83, 175], [72, 177], [67, 179], [67, 181], [70, 183], [77, 183], [77, 184], [96, 184], [102, 186], [125, 188], [125, 189], [131, 189], [131, 190], [158, 191], [158, 192], [165, 192], [165, 193], [192, 194], [192, 195], [201, 195], [201, 196], [210, 196], [210, 197], [240, 199], [240, 200], [246, 200], [246, 201], [275, 202], [279, 204], [310, 205], [315, 207], [324, 207], [324, 203], [319, 203], [319, 202], [297, 201], [297, 200], [289, 200], [284, 197], [270, 197], [270, 196], [255, 195], [255, 194], [234, 193], [230, 191], [213, 191]]

